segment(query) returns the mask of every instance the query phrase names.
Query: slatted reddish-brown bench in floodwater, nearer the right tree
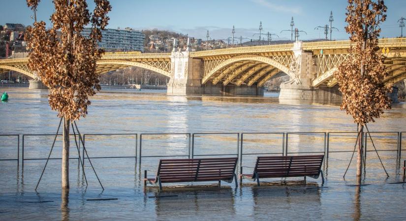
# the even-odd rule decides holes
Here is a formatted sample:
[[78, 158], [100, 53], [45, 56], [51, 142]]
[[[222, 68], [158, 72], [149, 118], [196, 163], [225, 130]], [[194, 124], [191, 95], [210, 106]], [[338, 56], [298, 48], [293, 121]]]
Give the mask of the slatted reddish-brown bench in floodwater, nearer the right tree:
[[252, 174], [243, 174], [243, 167], [241, 167], [240, 182], [244, 178], [253, 179], [259, 186], [260, 178], [303, 176], [306, 183], [306, 176], [317, 179], [321, 174], [322, 184], [324, 184], [323, 171], [321, 171], [323, 159], [324, 155], [258, 157]]

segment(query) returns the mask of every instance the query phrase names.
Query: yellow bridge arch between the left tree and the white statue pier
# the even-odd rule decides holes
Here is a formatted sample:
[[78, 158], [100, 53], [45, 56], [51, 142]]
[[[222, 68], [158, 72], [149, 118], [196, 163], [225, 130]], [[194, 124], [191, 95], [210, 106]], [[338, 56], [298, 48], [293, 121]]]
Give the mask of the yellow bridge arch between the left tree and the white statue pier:
[[149, 64], [141, 63], [141, 62], [135, 62], [135, 61], [124, 61], [124, 60], [108, 60], [108, 61], [97, 61], [96, 62], [96, 73], [97, 74], [103, 74], [112, 70], [117, 70], [117, 69], [122, 69], [126, 67], [140, 67], [140, 68], [145, 68], [151, 71], [154, 71], [156, 73], [162, 74], [168, 78], [171, 77], [171, 73], [168, 71], [165, 71], [163, 69], [154, 67]]

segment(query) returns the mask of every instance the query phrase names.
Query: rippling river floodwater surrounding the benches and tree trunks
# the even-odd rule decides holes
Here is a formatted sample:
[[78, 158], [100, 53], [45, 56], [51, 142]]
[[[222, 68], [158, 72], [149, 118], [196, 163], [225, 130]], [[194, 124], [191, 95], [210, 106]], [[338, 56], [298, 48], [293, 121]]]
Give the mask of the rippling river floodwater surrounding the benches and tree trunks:
[[[406, 131], [405, 103], [394, 104], [392, 110], [369, 125], [371, 132], [386, 132], [371, 135], [389, 177], [368, 140], [363, 181], [368, 185], [353, 187], [356, 159], [345, 180], [343, 175], [355, 136], [337, 132], [353, 132], [356, 127], [352, 118], [340, 111], [339, 104], [282, 101], [278, 100], [278, 94], [271, 93], [262, 98], [105, 90], [92, 98], [89, 115], [77, 122], [105, 190], [102, 191], [88, 159], [85, 159], [87, 186], [79, 160], [71, 159], [67, 194], [61, 191], [58, 159], [49, 161], [34, 191], [46, 161], [33, 159], [48, 157], [52, 134], [59, 123], [56, 112], [48, 106], [47, 91], [0, 89], [9, 94], [9, 101], [0, 103], [0, 134], [20, 135], [19, 143], [17, 136], [0, 137], [0, 220], [405, 220], [406, 217], [406, 185], [391, 184], [403, 178], [406, 132], [401, 142], [401, 158], [397, 149], [398, 132]], [[294, 134], [298, 132], [304, 134]], [[323, 132], [329, 132], [328, 145]], [[193, 138], [189, 133], [195, 133]], [[221, 188], [217, 182], [164, 184], [161, 192], [155, 187], [144, 188], [144, 170], [156, 170], [158, 159], [163, 156], [185, 158], [192, 152], [194, 158], [209, 154], [237, 156], [241, 133], [270, 133], [243, 134], [242, 166], [253, 166], [259, 153], [322, 154], [328, 147], [329, 156], [322, 166], [326, 182], [322, 185], [320, 178], [308, 178], [304, 184], [300, 177], [264, 179], [260, 187], [244, 180], [237, 189], [234, 183], [225, 182]], [[61, 146], [58, 137], [51, 158], [61, 156]], [[82, 151], [80, 145], [81, 156]], [[78, 157], [73, 135], [70, 153], [72, 158]], [[17, 161], [7, 161], [17, 158], [19, 165]], [[244, 172], [250, 173], [250, 168], [244, 168]], [[153, 175], [154, 172], [149, 172], [149, 176]], [[88, 200], [108, 198], [114, 199]]]

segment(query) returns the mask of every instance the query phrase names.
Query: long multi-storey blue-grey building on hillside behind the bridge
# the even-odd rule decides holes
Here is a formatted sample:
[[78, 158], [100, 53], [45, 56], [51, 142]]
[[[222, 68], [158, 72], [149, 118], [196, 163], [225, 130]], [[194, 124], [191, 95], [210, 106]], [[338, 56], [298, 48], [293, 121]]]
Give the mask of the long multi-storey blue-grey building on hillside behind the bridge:
[[[91, 28], [84, 28], [81, 32], [85, 37], [89, 37]], [[123, 50], [123, 51], [140, 51], [144, 52], [145, 35], [131, 28], [120, 29], [104, 29], [101, 30], [102, 39], [99, 42], [99, 47], [107, 52]]]

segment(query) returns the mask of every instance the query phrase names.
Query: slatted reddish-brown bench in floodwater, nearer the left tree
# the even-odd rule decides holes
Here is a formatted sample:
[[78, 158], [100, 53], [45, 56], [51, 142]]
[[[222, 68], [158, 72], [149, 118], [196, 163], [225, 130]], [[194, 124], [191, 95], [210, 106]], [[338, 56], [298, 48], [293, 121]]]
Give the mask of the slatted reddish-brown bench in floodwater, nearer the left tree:
[[167, 159], [159, 160], [158, 170], [154, 178], [147, 177], [147, 170], [144, 173], [144, 186], [147, 183], [159, 186], [162, 183], [180, 182], [203, 182], [221, 181], [232, 183], [233, 179], [237, 188], [237, 176], [235, 168], [237, 157], [232, 158], [204, 158], [204, 159]]

